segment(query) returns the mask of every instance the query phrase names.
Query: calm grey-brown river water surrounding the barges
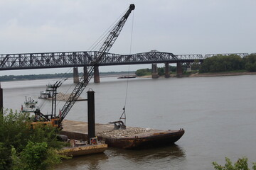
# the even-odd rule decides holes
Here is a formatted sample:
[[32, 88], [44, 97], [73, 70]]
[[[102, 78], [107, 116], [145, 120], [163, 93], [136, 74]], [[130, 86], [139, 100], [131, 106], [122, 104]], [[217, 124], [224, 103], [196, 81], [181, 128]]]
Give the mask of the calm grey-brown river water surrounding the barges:
[[[21, 108], [25, 96], [36, 99], [49, 81], [55, 82], [2, 82], [4, 107]], [[139, 151], [107, 149], [104, 154], [65, 160], [56, 169], [213, 169], [213, 161], [224, 164], [225, 157], [235, 162], [242, 156], [256, 162], [255, 85], [256, 75], [129, 79], [127, 125], [159, 130], [184, 128], [181, 140], [169, 147]], [[125, 79], [116, 77], [89, 84], [88, 88], [95, 91], [97, 123], [119, 119], [126, 86]], [[59, 91], [68, 89], [73, 89], [72, 80]], [[82, 98], [86, 98], [85, 92]], [[50, 113], [50, 101], [38, 102], [44, 102], [43, 113]], [[58, 103], [58, 108], [63, 104]], [[86, 121], [86, 112], [87, 104], [81, 101], [66, 118]]]

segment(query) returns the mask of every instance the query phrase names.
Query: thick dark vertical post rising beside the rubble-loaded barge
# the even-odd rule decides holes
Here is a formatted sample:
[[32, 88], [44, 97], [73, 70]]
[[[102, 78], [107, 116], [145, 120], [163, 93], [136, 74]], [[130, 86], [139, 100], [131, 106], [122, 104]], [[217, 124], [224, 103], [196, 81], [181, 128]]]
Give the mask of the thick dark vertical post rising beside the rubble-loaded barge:
[[95, 137], [95, 92], [87, 91], [88, 103], [88, 141]]

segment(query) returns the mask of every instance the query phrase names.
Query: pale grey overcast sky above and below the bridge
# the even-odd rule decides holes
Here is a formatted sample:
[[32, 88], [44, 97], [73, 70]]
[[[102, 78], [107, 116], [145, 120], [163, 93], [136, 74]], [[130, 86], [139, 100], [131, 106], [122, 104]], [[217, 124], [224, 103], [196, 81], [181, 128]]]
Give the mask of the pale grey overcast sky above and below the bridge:
[[[86, 51], [135, 4], [110, 52], [256, 52], [255, 0], [0, 0], [0, 54]], [[130, 66], [136, 70], [150, 65]], [[128, 66], [100, 67], [100, 72]], [[44, 74], [68, 69], [1, 71]]]

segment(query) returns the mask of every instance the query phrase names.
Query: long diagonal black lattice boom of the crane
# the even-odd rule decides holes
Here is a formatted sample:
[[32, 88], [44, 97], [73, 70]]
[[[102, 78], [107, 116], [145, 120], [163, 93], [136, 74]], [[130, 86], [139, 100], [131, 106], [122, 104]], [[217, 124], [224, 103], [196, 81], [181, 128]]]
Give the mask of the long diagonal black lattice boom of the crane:
[[110, 34], [107, 36], [105, 42], [103, 42], [103, 45], [100, 47], [99, 52], [97, 52], [97, 55], [94, 57], [94, 60], [90, 62], [89, 67], [87, 69], [87, 77], [82, 76], [80, 78], [78, 84], [75, 86], [75, 89], [73, 89], [73, 92], [70, 94], [68, 101], [66, 101], [63, 108], [61, 109], [59, 114], [59, 118], [61, 118], [61, 120], [63, 120], [65, 116], [68, 115], [68, 112], [75, 104], [75, 101], [78, 100], [78, 97], [80, 96], [80, 94], [82, 94], [82, 91], [85, 89], [90, 79], [92, 79], [95, 67], [97, 67], [97, 64], [101, 62], [102, 57], [104, 57], [105, 54], [110, 50], [110, 48], [114, 44], [114, 41], [117, 40], [117, 37], [124, 26], [124, 23], [127, 21], [129, 14], [132, 12], [132, 10], [134, 10], [134, 8], [134, 4], [131, 4], [127, 12], [124, 14], [124, 16], [122, 16], [122, 18], [110, 31]]

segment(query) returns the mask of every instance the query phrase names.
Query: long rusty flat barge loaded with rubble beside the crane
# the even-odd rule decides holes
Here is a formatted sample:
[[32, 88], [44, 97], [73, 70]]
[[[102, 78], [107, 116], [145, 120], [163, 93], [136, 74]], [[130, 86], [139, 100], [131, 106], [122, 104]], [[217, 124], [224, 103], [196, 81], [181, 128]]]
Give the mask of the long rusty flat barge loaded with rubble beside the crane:
[[[184, 134], [185, 130], [152, 130], [149, 128], [127, 127], [126, 130], [114, 130], [114, 125], [95, 124], [98, 140], [105, 141], [109, 147], [139, 149], [172, 145]], [[75, 140], [87, 139], [87, 123], [63, 120], [61, 134]]]

